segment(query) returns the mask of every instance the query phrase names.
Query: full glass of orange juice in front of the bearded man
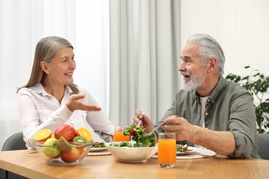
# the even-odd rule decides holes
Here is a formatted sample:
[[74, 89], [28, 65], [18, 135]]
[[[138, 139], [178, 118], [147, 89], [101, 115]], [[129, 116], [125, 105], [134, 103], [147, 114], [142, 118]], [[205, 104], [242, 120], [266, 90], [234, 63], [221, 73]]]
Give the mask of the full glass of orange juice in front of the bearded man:
[[158, 163], [163, 168], [175, 167], [177, 157], [176, 134], [159, 133], [158, 139]]

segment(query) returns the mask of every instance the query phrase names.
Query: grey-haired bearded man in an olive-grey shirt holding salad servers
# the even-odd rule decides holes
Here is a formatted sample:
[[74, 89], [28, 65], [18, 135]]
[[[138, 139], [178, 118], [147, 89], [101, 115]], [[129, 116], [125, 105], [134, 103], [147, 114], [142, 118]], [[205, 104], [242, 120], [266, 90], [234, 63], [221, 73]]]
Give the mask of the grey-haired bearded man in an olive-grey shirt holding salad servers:
[[[156, 133], [177, 134], [177, 143], [205, 147], [230, 158], [259, 158], [253, 97], [239, 85], [223, 78], [225, 56], [209, 35], [189, 37], [181, 54], [179, 72], [184, 87], [175, 96]], [[136, 110], [134, 123], [150, 132], [154, 125]], [[171, 125], [172, 124], [172, 125]]]

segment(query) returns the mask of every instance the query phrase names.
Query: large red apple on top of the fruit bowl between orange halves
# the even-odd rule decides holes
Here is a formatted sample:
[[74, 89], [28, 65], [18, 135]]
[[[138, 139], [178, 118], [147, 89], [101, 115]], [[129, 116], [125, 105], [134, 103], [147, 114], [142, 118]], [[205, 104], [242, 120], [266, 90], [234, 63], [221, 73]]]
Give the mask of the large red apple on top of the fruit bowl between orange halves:
[[60, 125], [57, 127], [57, 129], [54, 131], [55, 138], [59, 139], [61, 136], [66, 138], [68, 142], [72, 142], [73, 138], [77, 136], [76, 130], [71, 125]]

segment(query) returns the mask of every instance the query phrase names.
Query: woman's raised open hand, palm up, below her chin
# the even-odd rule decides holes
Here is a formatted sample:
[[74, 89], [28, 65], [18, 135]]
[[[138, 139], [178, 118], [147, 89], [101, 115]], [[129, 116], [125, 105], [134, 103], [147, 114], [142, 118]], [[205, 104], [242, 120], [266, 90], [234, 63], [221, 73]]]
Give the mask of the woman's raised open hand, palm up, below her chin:
[[66, 101], [66, 106], [68, 109], [70, 109], [71, 112], [74, 112], [74, 110], [83, 110], [88, 112], [101, 111], [101, 107], [97, 107], [96, 105], [89, 105], [88, 103], [82, 101], [81, 99], [84, 97], [84, 94], [72, 94], [68, 98], [68, 101]]

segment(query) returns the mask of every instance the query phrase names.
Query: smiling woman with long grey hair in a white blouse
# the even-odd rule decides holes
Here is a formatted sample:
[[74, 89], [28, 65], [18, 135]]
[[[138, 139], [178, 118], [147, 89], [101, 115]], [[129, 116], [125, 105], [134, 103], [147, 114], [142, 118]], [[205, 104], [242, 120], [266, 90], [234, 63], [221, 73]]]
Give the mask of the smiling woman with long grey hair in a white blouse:
[[[73, 83], [76, 69], [73, 46], [59, 36], [48, 36], [37, 43], [32, 74], [19, 87], [19, 116], [23, 139], [35, 149], [34, 134], [41, 129], [52, 132], [64, 123], [75, 128], [87, 127], [114, 134], [114, 127], [92, 95]], [[101, 136], [109, 141], [110, 136]]]

